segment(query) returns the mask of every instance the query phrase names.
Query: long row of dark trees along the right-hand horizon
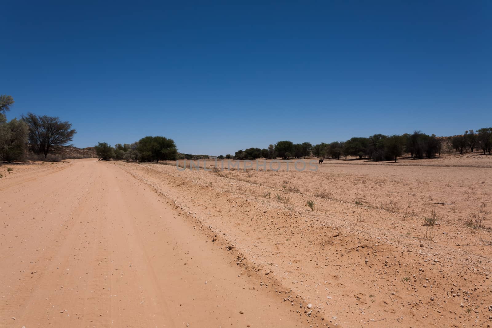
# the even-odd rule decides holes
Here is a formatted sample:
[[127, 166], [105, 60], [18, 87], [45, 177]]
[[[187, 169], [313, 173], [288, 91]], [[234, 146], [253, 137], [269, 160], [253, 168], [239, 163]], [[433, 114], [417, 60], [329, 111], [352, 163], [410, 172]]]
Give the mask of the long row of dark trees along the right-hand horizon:
[[[473, 130], [465, 131], [464, 135], [451, 138], [451, 144], [460, 153], [464, 149], [480, 148], [483, 153], [491, 153], [492, 148], [492, 128], [481, 128], [475, 133]], [[312, 145], [304, 142], [294, 144], [291, 141], [279, 141], [268, 148], [247, 148], [238, 150], [234, 154], [234, 159], [255, 160], [257, 158], [306, 158], [330, 157], [340, 159], [347, 156], [358, 158], [368, 158], [373, 161], [397, 161], [399, 156], [410, 154], [412, 158], [432, 158], [440, 156], [443, 144], [442, 139], [434, 134], [428, 135], [421, 131], [404, 133], [401, 135], [374, 134], [367, 137], [352, 137], [347, 141], [334, 141], [331, 143], [320, 143]], [[227, 156], [230, 155], [226, 155]], [[219, 156], [219, 158], [223, 156]]]

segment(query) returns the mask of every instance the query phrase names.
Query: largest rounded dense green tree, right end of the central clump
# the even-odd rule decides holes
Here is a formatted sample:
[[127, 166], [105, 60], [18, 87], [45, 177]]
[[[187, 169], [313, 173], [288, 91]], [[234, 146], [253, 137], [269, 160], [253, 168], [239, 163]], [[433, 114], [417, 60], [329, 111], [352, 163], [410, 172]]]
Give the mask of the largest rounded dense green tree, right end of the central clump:
[[174, 140], [161, 136], [147, 136], [138, 141], [138, 153], [144, 161], [174, 160], [178, 149]]

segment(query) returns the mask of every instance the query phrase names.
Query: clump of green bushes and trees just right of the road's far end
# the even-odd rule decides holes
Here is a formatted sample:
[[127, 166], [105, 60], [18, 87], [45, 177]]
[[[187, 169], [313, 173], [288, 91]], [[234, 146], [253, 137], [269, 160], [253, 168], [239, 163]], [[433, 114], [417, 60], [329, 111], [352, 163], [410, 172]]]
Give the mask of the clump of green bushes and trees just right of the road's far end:
[[161, 136], [147, 136], [133, 144], [116, 144], [114, 147], [100, 142], [94, 149], [97, 157], [102, 160], [126, 159], [158, 163], [160, 160], [175, 160], [178, 157], [174, 140]]

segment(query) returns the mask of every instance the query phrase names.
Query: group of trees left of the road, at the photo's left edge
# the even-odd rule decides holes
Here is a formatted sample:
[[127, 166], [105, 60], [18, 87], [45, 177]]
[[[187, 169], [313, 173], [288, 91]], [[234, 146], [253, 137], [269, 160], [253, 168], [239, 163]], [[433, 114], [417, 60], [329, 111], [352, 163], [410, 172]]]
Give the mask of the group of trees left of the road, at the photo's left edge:
[[0, 160], [24, 161], [28, 152], [47, 158], [59, 146], [73, 140], [75, 129], [58, 117], [32, 113], [7, 121], [6, 112], [14, 104], [10, 95], [0, 95]]

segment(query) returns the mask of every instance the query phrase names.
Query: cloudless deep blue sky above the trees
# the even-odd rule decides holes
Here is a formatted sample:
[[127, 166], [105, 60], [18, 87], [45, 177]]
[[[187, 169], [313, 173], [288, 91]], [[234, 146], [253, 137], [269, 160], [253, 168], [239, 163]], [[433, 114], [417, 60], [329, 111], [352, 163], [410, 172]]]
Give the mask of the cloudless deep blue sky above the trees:
[[492, 1], [75, 2], [1, 3], [0, 94], [9, 119], [72, 122], [77, 147], [492, 126]]

